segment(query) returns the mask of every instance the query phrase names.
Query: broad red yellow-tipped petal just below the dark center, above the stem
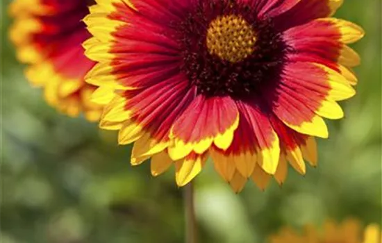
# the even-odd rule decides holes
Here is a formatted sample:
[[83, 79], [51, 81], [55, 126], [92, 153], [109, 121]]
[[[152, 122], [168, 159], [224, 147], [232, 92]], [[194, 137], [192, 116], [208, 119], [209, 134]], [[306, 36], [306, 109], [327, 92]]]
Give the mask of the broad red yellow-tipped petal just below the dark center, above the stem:
[[238, 123], [238, 108], [230, 97], [199, 95], [172, 127], [169, 156], [178, 160], [191, 151], [201, 154], [212, 144], [228, 149]]

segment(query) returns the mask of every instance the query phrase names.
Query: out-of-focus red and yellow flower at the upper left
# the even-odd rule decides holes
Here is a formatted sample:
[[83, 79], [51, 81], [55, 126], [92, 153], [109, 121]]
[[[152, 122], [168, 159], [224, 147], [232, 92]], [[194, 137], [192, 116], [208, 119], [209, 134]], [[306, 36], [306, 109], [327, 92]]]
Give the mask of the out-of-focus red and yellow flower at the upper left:
[[90, 101], [93, 85], [85, 74], [94, 62], [83, 54], [82, 42], [90, 33], [81, 22], [88, 14], [88, 0], [16, 0], [10, 6], [15, 23], [10, 40], [17, 47], [17, 58], [28, 64], [26, 76], [32, 85], [44, 88], [47, 102], [76, 117], [96, 121], [101, 106]]

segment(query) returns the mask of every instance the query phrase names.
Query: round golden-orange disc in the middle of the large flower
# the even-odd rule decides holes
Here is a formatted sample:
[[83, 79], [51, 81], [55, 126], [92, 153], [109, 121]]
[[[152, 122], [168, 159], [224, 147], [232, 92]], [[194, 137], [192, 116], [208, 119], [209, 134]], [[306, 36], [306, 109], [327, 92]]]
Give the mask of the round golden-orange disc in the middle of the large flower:
[[211, 55], [240, 62], [251, 55], [256, 44], [255, 31], [238, 15], [218, 16], [208, 27], [206, 42]]

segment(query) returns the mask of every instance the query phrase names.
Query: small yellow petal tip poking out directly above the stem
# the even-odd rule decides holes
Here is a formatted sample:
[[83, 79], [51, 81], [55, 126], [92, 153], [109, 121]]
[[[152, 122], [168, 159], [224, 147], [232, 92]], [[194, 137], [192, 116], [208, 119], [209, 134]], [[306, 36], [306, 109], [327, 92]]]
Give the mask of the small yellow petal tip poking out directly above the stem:
[[197, 153], [190, 153], [184, 158], [184, 160], [175, 162], [176, 184], [179, 187], [183, 187], [183, 185], [189, 183], [195, 176], [199, 174], [201, 169], [206, 164], [207, 158], [207, 153], [201, 155]]

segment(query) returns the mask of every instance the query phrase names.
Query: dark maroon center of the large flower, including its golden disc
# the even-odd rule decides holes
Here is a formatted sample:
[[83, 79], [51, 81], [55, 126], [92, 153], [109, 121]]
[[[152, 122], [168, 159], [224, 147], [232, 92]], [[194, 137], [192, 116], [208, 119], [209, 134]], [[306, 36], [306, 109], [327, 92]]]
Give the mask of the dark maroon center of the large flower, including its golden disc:
[[257, 12], [229, 0], [199, 1], [177, 24], [183, 72], [199, 94], [241, 99], [279, 78], [288, 47]]

